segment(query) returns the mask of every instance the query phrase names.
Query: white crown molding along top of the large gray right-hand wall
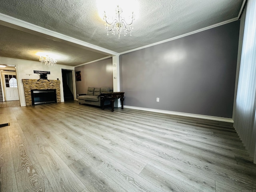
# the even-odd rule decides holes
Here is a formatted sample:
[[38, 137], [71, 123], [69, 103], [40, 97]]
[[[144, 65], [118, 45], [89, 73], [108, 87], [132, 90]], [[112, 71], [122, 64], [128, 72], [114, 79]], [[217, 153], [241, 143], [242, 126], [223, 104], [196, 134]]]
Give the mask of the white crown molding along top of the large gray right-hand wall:
[[182, 37], [185, 37], [185, 36], [189, 36], [189, 35], [201, 32], [201, 31], [205, 31], [205, 30], [208, 30], [208, 29], [211, 29], [211, 28], [214, 28], [214, 27], [218, 27], [218, 26], [221, 26], [221, 25], [224, 25], [224, 24], [228, 24], [228, 23], [236, 21], [236, 20], [238, 20], [238, 17], [230, 19], [230, 20], [226, 20], [226, 21], [223, 21], [223, 22], [220, 22], [220, 23], [217, 23], [217, 24], [214, 24], [214, 25], [202, 28], [202, 29], [198, 29], [198, 30], [195, 30], [195, 31], [183, 34], [183, 35], [179, 35], [179, 36], [176, 36], [176, 37], [173, 37], [173, 38], [170, 38], [170, 39], [162, 40], [162, 41], [152, 43], [152, 44], [149, 44], [149, 45], [146, 45], [146, 46], [142, 46], [142, 47], [139, 47], [139, 48], [128, 50], [128, 51], [120, 53], [120, 55], [129, 53], [129, 52], [133, 52], [133, 51], [137, 51], [137, 50], [140, 50], [140, 49], [144, 49], [144, 48], [147, 48], [147, 47], [151, 47], [151, 46], [154, 46], [154, 45], [158, 45], [158, 44], [161, 44], [161, 43], [165, 43], [165, 42], [168, 42], [168, 41], [172, 41], [172, 40], [175, 40], [175, 39], [179, 39], [179, 38], [182, 38]]

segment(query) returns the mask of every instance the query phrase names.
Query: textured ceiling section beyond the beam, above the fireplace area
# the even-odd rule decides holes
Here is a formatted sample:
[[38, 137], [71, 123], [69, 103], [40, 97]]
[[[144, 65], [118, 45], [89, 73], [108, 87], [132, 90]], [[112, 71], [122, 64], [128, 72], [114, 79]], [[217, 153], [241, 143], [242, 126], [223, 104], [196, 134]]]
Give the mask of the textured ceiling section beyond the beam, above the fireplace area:
[[0, 25], [0, 31], [2, 57], [10, 57], [12, 53], [12, 58], [38, 61], [37, 52], [48, 52], [58, 56], [57, 64], [77, 66], [108, 56], [6, 26]]

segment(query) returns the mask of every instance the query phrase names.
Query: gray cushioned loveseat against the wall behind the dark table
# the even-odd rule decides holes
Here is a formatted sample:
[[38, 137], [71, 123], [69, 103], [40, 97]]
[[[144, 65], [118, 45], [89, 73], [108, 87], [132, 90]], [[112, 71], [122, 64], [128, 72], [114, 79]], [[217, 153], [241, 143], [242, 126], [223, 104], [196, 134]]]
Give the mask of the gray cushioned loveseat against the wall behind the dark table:
[[[102, 106], [100, 100], [101, 92], [110, 92], [109, 87], [94, 88], [88, 87], [87, 94], [77, 94], [79, 104], [89, 104], [95, 106]], [[109, 100], [105, 100], [104, 105], [110, 104]]]

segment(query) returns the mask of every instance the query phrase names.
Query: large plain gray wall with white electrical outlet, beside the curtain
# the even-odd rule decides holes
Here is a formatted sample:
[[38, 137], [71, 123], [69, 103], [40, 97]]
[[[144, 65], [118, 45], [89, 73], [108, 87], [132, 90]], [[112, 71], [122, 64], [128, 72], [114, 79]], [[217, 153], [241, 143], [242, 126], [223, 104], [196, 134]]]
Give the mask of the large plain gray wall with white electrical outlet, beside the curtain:
[[124, 105], [232, 118], [239, 25], [120, 55]]

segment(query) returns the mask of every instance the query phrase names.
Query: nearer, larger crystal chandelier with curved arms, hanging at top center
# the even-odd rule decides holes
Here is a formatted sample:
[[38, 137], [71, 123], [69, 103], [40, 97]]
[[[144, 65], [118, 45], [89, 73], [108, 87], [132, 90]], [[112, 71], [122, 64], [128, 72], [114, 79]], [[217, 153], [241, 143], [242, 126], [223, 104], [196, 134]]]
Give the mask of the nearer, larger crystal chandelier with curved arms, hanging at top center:
[[[106, 16], [106, 12], [104, 11], [104, 16], [103, 19], [106, 22], [105, 24], [105, 28], [106, 30], [112, 31], [112, 34], [117, 33], [118, 34], [118, 39], [120, 38], [120, 34], [122, 32], [122, 30], [124, 30], [124, 36], [126, 36], [127, 32], [130, 32], [130, 36], [132, 35], [131, 31], [133, 29], [133, 21], [135, 19], [135, 16], [132, 12], [132, 18], [130, 19], [130, 22], [126, 22], [124, 20], [124, 18], [122, 18], [121, 14], [122, 14], [122, 9], [117, 6], [116, 8], [116, 18], [114, 20], [112, 20], [111, 22], [109, 22], [109, 18], [107, 18]], [[116, 30], [116, 32], [115, 32]], [[107, 35], [108, 35], [107, 32]]]

